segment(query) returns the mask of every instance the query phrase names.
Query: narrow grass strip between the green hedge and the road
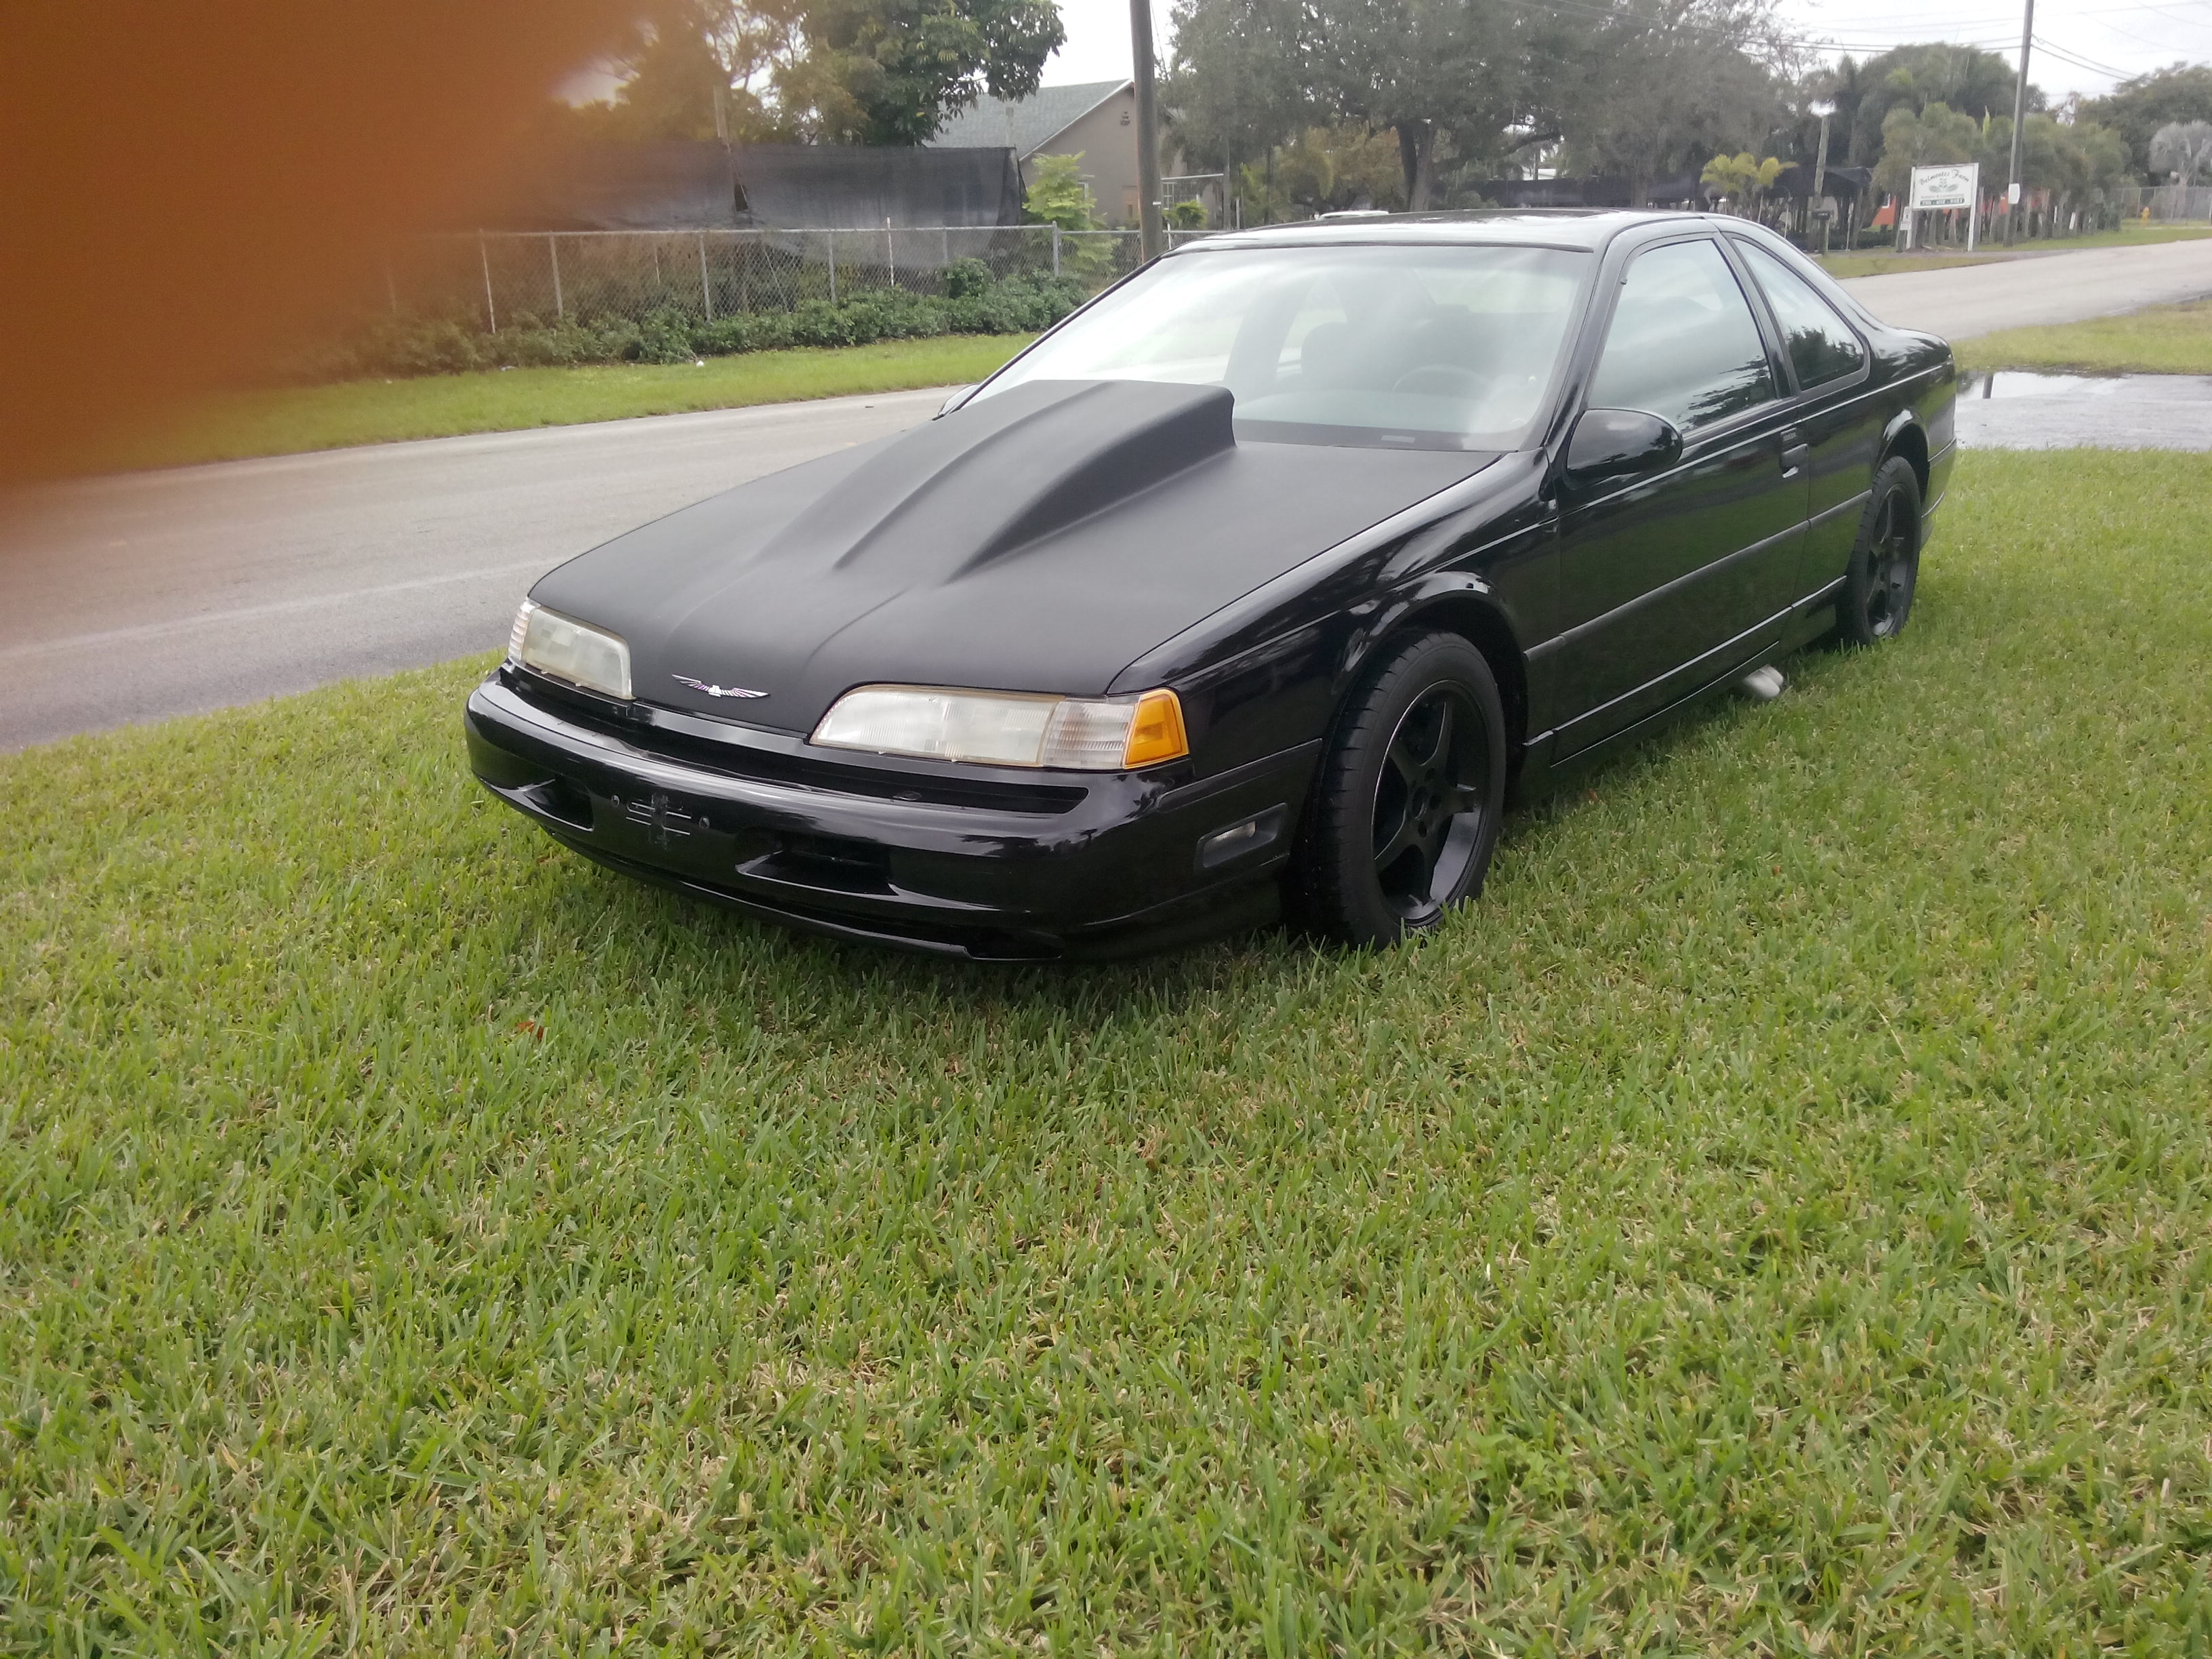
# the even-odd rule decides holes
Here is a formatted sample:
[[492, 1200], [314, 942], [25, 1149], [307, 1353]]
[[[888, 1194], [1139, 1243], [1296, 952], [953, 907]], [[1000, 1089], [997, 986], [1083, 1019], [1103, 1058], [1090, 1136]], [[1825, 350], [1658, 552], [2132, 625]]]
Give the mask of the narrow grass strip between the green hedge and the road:
[[179, 409], [104, 456], [111, 467], [177, 467], [301, 449], [568, 427], [688, 409], [964, 385], [1029, 345], [1029, 334], [945, 334], [838, 349], [741, 352], [701, 365], [489, 369], [416, 380], [228, 392]]

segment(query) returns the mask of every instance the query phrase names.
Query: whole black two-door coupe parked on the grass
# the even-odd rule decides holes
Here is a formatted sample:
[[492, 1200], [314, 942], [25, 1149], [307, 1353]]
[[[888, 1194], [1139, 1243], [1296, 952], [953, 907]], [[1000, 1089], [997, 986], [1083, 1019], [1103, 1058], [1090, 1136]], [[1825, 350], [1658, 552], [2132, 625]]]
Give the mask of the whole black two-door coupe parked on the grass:
[[586, 858], [841, 938], [1383, 945], [1482, 887], [1511, 787], [1896, 635], [1953, 400], [1739, 219], [1210, 237], [546, 575], [469, 754]]

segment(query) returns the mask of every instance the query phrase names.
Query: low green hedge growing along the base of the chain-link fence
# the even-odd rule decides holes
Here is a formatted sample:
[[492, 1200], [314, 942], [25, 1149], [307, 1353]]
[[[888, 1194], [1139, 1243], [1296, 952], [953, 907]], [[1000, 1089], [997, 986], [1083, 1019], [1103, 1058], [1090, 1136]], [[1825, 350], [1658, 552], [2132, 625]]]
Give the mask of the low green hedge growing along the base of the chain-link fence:
[[352, 338], [299, 354], [296, 380], [367, 380], [469, 369], [566, 367], [577, 363], [690, 363], [732, 352], [772, 352], [792, 345], [869, 345], [929, 334], [1035, 334], [1088, 299], [1088, 283], [1073, 276], [1011, 276], [989, 281], [960, 265], [947, 272], [947, 294], [883, 290], [838, 301], [805, 301], [787, 312], [737, 312], [706, 321], [681, 310], [599, 323], [546, 323], [520, 316], [487, 334], [449, 316], [396, 316], [372, 323]]

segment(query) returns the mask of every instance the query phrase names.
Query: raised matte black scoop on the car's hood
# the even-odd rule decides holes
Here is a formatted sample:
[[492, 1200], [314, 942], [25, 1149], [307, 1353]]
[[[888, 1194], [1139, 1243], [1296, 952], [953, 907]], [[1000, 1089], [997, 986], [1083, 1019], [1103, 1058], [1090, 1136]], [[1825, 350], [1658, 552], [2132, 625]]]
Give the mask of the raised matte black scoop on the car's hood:
[[1234, 409], [1225, 387], [1033, 380], [896, 438], [763, 553], [960, 575], [1234, 449]]

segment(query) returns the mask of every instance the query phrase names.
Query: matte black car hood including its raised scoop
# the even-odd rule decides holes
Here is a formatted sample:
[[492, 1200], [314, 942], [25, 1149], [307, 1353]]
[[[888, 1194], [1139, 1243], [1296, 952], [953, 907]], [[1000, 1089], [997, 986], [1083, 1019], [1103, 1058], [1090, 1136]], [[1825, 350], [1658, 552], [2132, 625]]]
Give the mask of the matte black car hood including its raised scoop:
[[792, 732], [867, 681], [1097, 695], [1493, 460], [1239, 445], [1230, 416], [1219, 387], [1013, 387], [670, 513], [531, 597], [628, 639], [637, 697]]

